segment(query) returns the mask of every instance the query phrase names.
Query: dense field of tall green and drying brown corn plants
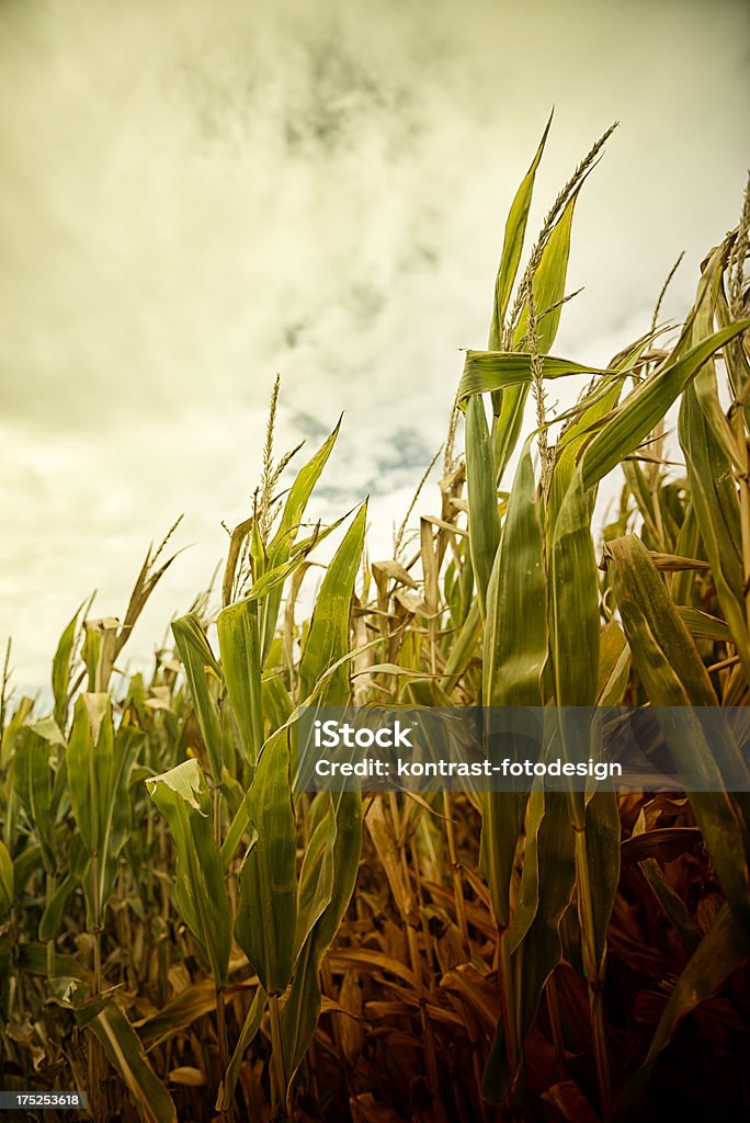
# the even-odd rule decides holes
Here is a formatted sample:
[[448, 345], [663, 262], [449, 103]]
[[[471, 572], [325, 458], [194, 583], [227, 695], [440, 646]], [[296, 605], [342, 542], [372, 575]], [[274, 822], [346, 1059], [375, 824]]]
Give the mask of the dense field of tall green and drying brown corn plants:
[[[3, 1089], [80, 1089], [89, 1117], [124, 1123], [748, 1112], [750, 795], [714, 789], [715, 747], [693, 793], [293, 784], [301, 706], [750, 703], [750, 203], [679, 328], [657, 308], [600, 367], [557, 357], [574, 212], [610, 133], [528, 249], [545, 131], [436, 513], [408, 517], [391, 558], [366, 558], [366, 503], [305, 521], [339, 427], [295, 472], [276, 384], [221, 587], [150, 675], [118, 664], [179, 565], [166, 540], [121, 619], [73, 614], [51, 709], [15, 695], [7, 663]], [[554, 414], [558, 378], [579, 393]]]

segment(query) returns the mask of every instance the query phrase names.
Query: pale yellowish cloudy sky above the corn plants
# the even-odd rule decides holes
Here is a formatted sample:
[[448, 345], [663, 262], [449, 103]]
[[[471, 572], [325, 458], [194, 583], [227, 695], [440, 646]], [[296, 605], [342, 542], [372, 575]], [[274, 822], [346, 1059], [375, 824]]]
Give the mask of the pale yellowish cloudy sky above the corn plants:
[[145, 658], [222, 556], [278, 442], [345, 423], [317, 513], [372, 495], [371, 551], [486, 344], [504, 216], [552, 104], [539, 221], [621, 121], [574, 227], [556, 350], [679, 318], [747, 174], [734, 0], [0, 0], [0, 637], [45, 687], [93, 590], [191, 544]]

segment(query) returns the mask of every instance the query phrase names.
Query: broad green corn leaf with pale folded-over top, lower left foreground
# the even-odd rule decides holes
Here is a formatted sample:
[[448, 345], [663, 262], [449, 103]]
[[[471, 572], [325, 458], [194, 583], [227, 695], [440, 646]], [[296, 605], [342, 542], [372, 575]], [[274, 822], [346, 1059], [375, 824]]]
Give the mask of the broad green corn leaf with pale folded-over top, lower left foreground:
[[205, 950], [217, 986], [225, 986], [231, 952], [231, 912], [205, 776], [198, 760], [184, 760], [147, 779], [146, 788], [170, 825], [177, 853], [177, 907]]

